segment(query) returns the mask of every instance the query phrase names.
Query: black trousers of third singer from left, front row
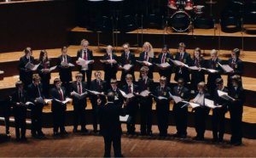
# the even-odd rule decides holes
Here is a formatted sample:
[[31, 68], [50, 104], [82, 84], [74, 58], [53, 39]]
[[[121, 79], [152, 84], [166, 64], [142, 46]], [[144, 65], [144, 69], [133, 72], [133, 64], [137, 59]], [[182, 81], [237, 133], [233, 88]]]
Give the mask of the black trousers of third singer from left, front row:
[[58, 133], [59, 128], [61, 132], [64, 132], [65, 121], [66, 121], [66, 108], [53, 110], [52, 114], [53, 114], [54, 133]]

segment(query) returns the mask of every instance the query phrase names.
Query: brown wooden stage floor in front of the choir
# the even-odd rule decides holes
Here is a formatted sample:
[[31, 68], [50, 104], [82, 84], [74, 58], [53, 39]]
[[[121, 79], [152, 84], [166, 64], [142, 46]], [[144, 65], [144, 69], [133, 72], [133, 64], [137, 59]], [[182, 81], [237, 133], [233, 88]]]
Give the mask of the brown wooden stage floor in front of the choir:
[[[92, 130], [92, 126], [87, 126]], [[125, 125], [122, 126], [126, 130]], [[137, 129], [139, 127], [137, 126]], [[67, 127], [69, 135], [63, 138], [52, 137], [52, 128], [44, 128], [45, 139], [31, 138], [30, 130], [26, 131], [26, 143], [15, 142], [15, 129], [11, 127], [10, 141], [0, 137], [1, 157], [102, 157], [104, 151], [103, 138], [93, 134], [82, 135], [72, 133], [73, 127]], [[4, 133], [4, 127], [0, 128]], [[158, 138], [158, 129], [153, 127], [152, 138], [123, 134], [121, 139], [122, 154], [125, 157], [254, 157], [256, 140], [243, 138], [241, 146], [227, 144], [229, 134], [224, 134], [224, 144], [212, 144], [212, 132], [206, 132], [206, 141], [197, 142], [195, 129], [188, 128], [188, 138], [178, 139], [168, 136]], [[168, 133], [176, 133], [175, 127], [169, 127]], [[113, 155], [113, 152], [112, 152]]]

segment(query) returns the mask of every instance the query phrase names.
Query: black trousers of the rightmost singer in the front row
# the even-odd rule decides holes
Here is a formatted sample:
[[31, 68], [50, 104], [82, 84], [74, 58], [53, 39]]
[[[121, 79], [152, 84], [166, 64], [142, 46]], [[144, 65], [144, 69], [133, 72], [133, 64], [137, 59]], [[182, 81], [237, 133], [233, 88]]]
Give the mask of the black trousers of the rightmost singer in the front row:
[[241, 143], [242, 138], [242, 103], [239, 101], [230, 104], [230, 122], [231, 122], [231, 143]]

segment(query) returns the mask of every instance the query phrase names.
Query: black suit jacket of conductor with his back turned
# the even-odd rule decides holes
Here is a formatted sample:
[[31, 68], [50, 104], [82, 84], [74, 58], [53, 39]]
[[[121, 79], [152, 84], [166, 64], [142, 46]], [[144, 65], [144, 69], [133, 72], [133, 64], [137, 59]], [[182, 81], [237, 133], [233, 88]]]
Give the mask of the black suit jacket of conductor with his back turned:
[[119, 115], [121, 107], [118, 104], [107, 103], [100, 105], [99, 120], [103, 136], [116, 136], [122, 133]]

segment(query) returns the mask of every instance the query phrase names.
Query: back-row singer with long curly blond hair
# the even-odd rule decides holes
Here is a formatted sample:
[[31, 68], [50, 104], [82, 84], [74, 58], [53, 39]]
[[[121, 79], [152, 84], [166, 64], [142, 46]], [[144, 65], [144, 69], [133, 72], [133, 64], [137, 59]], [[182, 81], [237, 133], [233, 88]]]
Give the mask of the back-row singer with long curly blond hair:
[[150, 44], [150, 42], [144, 42], [143, 44], [143, 52], [140, 53], [139, 56], [139, 61], [147, 61], [149, 63], [151, 63], [152, 65], [148, 65], [146, 63], [142, 63], [141, 67], [147, 66], [149, 71], [148, 71], [148, 77], [149, 78], [153, 78], [153, 71], [154, 71], [154, 49], [152, 47], [152, 45]]

